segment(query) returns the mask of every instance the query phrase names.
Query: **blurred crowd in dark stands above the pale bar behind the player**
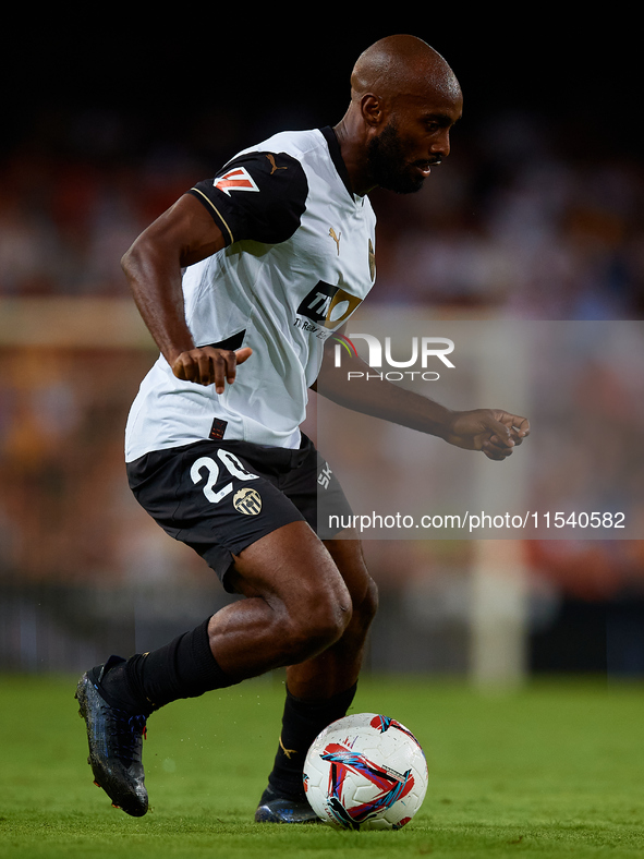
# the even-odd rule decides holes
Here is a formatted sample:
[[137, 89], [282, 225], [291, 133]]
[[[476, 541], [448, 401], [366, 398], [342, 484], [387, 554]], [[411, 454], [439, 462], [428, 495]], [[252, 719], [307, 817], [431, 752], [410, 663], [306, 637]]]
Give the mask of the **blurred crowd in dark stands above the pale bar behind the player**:
[[[141, 145], [126, 116], [44, 116], [0, 164], [0, 295], [125, 294], [119, 261], [135, 235], [196, 180], [277, 130], [210, 117], [185, 138]], [[583, 128], [536, 113], [457, 126], [450, 158], [422, 193], [373, 195], [370, 301], [639, 318], [642, 164], [585, 148], [583, 138]]]

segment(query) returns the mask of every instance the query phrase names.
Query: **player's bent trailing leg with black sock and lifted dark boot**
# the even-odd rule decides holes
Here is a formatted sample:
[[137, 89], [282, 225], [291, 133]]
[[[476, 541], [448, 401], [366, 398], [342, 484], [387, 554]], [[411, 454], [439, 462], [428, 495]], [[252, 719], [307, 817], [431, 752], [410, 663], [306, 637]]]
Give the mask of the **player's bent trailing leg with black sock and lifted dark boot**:
[[351, 595], [331, 555], [302, 521], [240, 552], [233, 582], [245, 600], [150, 653], [108, 661], [78, 683], [96, 782], [130, 814], [147, 811], [141, 733], [150, 712], [314, 658], [352, 619]]

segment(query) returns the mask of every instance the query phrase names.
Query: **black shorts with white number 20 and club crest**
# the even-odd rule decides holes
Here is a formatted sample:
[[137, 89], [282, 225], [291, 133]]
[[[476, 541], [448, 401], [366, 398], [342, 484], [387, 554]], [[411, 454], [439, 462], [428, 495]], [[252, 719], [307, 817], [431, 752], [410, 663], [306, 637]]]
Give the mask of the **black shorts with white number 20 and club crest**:
[[142, 507], [194, 548], [226, 590], [233, 555], [259, 537], [305, 521], [329, 540], [351, 516], [340, 483], [305, 435], [297, 450], [207, 439], [155, 450], [126, 468]]

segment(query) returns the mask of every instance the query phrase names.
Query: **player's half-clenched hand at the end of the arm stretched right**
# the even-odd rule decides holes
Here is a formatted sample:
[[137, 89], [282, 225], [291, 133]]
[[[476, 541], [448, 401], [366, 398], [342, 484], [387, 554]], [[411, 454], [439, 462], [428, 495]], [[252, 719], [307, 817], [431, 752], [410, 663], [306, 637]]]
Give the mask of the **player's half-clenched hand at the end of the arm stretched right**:
[[454, 412], [445, 440], [464, 450], [482, 450], [502, 462], [530, 435], [530, 421], [501, 409]]

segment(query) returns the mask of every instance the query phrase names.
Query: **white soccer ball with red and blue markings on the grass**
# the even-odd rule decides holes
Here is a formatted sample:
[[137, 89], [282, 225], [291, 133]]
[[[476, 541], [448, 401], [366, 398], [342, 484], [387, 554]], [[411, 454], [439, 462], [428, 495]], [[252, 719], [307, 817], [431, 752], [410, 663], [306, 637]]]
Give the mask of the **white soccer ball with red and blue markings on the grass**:
[[316, 814], [343, 830], [400, 830], [421, 808], [427, 762], [414, 735], [388, 716], [331, 723], [309, 748], [304, 789]]

